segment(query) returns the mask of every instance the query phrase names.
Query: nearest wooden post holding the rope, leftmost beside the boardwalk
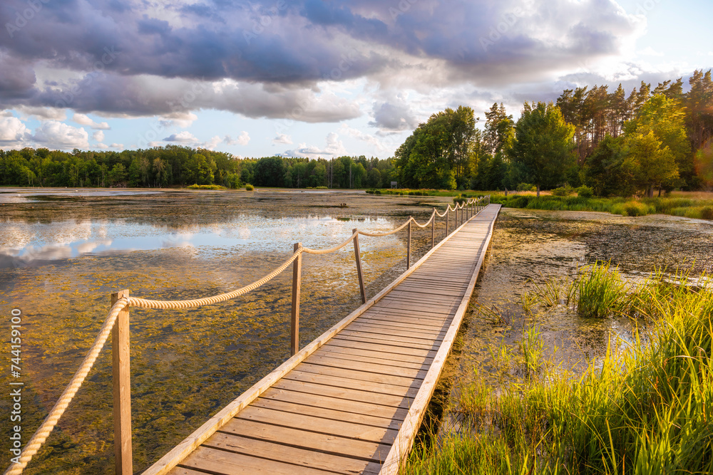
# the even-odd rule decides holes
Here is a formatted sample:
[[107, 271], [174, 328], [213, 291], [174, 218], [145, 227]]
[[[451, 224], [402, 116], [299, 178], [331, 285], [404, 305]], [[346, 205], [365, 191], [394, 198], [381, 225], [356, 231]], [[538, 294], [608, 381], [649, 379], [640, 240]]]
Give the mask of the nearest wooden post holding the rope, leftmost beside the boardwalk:
[[[111, 306], [129, 291], [111, 294]], [[114, 394], [114, 466], [116, 475], [132, 475], [131, 458], [131, 367], [129, 352], [129, 310], [124, 308], [116, 316], [111, 330], [111, 378]]]

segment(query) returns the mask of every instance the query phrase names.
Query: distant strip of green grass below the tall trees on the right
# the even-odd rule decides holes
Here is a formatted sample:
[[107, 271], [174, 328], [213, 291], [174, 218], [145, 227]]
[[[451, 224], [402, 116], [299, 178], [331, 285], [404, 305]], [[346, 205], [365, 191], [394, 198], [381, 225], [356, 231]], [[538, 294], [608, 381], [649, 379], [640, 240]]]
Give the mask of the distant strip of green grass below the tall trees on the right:
[[687, 197], [665, 198], [584, 198], [555, 197], [531, 194], [493, 194], [491, 202], [511, 208], [550, 209], [562, 211], [598, 211], [622, 216], [645, 216], [646, 214], [670, 214], [695, 219], [713, 219], [713, 199]]

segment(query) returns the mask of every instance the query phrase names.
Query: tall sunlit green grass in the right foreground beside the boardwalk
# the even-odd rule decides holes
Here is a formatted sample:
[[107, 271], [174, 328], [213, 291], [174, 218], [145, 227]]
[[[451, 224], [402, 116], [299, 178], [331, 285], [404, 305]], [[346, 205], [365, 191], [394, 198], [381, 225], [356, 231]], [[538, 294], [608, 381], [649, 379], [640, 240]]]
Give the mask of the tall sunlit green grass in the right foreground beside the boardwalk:
[[[679, 276], [679, 282], [688, 276]], [[582, 375], [555, 367], [538, 325], [523, 328], [522, 380], [461, 391], [461, 430], [417, 447], [402, 474], [709, 474], [713, 472], [713, 291], [655, 273], [626, 282], [608, 266], [528, 296], [586, 318], [627, 313], [647, 330], [610, 345]], [[527, 309], [526, 309], [527, 310]]]

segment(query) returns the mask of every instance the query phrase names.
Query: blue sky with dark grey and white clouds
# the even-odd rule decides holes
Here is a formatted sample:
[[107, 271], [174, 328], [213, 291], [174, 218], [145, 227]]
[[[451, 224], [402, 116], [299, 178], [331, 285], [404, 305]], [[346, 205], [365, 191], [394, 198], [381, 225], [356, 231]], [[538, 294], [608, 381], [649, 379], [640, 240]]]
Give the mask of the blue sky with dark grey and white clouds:
[[[393, 155], [420, 122], [713, 68], [710, 0], [2, 0], [0, 148]], [[483, 121], [479, 122], [482, 127]]]

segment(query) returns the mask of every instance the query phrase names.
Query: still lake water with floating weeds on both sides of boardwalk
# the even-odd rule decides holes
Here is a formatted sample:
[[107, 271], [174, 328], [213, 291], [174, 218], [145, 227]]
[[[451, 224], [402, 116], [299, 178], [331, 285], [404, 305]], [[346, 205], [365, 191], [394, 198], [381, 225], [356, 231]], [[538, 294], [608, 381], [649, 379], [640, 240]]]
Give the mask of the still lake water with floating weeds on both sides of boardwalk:
[[[425, 221], [436, 197], [292, 192], [2, 189], [0, 312], [23, 315], [26, 441], [56, 402], [108, 310], [109, 293], [179, 299], [230, 291], [261, 278], [304, 246], [333, 246], [354, 227], [387, 231]], [[342, 204], [346, 207], [342, 207]], [[452, 223], [452, 221], [451, 221]], [[452, 224], [451, 224], [452, 225]], [[430, 246], [414, 231], [414, 261]], [[444, 234], [437, 228], [437, 239]], [[367, 293], [405, 268], [406, 232], [360, 238]], [[516, 346], [527, 320], [520, 293], [550, 276], [611, 260], [630, 278], [656, 266], [713, 266], [713, 226], [669, 216], [505, 209], [443, 387], [492, 370], [491, 348]], [[351, 246], [304, 256], [301, 344], [359, 306]], [[289, 271], [236, 301], [192, 310], [131, 310], [134, 468], [144, 469], [284, 361], [289, 353]], [[477, 305], [505, 322], [483, 320]], [[540, 320], [549, 348], [573, 365], [600, 355], [630, 323], [587, 321], [566, 310]], [[8, 328], [4, 325], [4, 328]], [[26, 473], [112, 471], [111, 359], [103, 351], [76, 399]], [[0, 384], [7, 385], [2, 375]], [[9, 400], [0, 400], [0, 412]], [[448, 405], [446, 403], [446, 405]], [[0, 428], [9, 431], [2, 419]], [[8, 453], [6, 441], [0, 451]]]

